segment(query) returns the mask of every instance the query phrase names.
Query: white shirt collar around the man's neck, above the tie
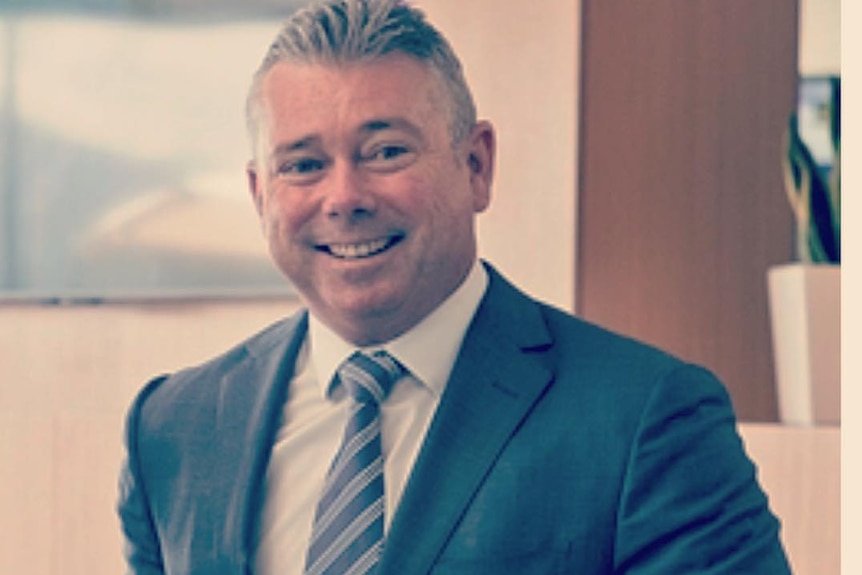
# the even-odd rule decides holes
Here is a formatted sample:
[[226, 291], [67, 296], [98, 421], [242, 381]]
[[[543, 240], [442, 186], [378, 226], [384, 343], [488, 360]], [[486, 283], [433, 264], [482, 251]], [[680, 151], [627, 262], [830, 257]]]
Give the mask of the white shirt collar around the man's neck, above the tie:
[[[467, 278], [437, 309], [407, 332], [369, 351], [385, 349], [439, 396], [487, 286], [488, 273], [478, 261], [474, 262]], [[312, 365], [325, 395], [338, 366], [357, 348], [313, 314], [309, 314], [308, 337]]]

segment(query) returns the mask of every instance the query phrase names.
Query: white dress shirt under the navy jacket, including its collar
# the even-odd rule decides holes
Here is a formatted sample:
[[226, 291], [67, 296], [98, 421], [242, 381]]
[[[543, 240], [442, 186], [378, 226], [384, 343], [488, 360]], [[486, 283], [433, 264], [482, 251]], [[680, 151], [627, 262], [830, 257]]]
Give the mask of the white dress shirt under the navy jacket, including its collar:
[[[385, 349], [409, 372], [381, 407], [387, 529], [487, 284], [487, 273], [475, 262], [467, 279], [422, 322], [366, 350]], [[258, 575], [302, 575], [317, 500], [348, 418], [350, 400], [333, 376], [354, 351], [309, 318], [266, 474]]]

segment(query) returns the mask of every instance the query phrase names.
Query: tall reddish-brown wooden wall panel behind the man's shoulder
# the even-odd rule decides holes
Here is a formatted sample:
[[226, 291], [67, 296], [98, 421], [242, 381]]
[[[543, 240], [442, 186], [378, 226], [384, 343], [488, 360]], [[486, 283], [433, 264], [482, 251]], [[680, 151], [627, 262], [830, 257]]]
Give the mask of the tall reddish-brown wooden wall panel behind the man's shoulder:
[[584, 0], [577, 310], [773, 420], [766, 270], [792, 257], [794, 0]]

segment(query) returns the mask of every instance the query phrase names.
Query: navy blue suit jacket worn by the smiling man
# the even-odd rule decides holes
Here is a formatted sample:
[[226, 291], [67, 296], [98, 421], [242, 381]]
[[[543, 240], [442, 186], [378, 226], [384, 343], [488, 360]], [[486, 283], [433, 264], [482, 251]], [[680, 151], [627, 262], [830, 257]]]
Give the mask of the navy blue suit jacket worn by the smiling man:
[[[789, 573], [720, 382], [490, 276], [379, 575]], [[130, 573], [252, 572], [306, 323], [139, 394], [119, 502]]]

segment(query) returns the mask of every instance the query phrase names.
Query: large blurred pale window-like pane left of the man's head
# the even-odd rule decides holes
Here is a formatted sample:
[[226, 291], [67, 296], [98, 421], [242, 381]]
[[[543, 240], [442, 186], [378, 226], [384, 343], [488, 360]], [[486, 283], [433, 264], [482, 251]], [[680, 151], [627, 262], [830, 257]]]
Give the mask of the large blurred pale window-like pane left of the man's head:
[[246, 186], [244, 106], [292, 9], [0, 2], [0, 295], [289, 291]]

